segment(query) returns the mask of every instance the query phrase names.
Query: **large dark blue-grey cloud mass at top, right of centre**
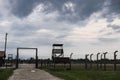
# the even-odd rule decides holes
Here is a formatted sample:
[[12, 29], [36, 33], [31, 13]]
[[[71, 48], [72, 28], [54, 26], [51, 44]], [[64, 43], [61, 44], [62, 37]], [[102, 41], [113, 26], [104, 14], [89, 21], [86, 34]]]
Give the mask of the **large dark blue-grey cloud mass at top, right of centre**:
[[[104, 3], [104, 1], [102, 0], [49, 0], [48, 2], [51, 3], [53, 6], [52, 11], [59, 11], [59, 21], [66, 20], [70, 23], [76, 23], [88, 18], [92, 13], [99, 11]], [[66, 2], [71, 2], [75, 4], [75, 6], [73, 7], [74, 11], [68, 10], [67, 8], [63, 10], [63, 5]], [[46, 9], [46, 11], [47, 10], [49, 10], [49, 8]]]

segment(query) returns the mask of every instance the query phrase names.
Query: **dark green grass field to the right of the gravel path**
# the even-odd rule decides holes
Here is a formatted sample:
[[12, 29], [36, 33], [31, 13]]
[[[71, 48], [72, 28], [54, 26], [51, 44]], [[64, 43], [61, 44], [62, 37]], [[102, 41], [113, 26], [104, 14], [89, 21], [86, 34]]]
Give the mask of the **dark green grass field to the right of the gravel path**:
[[72, 70], [66, 70], [61, 66], [45, 70], [65, 80], [120, 80], [120, 71], [85, 70], [78, 65], [73, 65]]

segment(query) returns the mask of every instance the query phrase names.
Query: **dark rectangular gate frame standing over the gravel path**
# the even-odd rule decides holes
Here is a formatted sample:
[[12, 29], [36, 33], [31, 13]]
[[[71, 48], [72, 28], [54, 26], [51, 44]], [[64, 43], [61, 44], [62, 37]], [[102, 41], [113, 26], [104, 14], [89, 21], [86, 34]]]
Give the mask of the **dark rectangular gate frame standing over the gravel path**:
[[36, 50], [36, 60], [35, 60], [35, 68], [38, 68], [38, 49], [37, 48], [25, 48], [25, 47], [18, 47], [17, 48], [17, 56], [16, 56], [16, 68], [19, 67], [19, 50], [20, 49], [31, 49], [31, 50]]

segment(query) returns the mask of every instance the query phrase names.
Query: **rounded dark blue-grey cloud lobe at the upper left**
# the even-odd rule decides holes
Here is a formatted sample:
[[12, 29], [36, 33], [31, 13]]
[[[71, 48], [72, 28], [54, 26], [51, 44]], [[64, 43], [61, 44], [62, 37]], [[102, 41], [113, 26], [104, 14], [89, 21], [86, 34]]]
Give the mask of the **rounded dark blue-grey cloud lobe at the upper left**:
[[29, 15], [42, 0], [10, 0], [12, 13], [18, 17]]

